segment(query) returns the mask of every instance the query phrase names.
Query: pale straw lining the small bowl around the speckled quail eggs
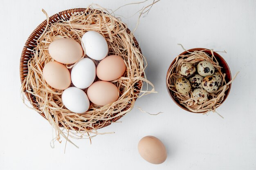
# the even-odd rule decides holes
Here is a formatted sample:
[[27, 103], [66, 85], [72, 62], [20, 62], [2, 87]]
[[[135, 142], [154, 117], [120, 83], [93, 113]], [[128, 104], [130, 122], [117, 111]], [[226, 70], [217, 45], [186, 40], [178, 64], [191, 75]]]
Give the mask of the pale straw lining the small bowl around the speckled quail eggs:
[[[182, 106], [187, 108], [189, 111], [194, 113], [208, 113], [209, 111], [215, 112], [216, 108], [222, 104], [225, 99], [225, 92], [230, 88], [231, 82], [226, 82], [225, 77], [226, 74], [222, 73], [222, 67], [219, 65], [219, 62], [216, 60], [214, 56], [213, 50], [211, 50], [211, 55], [208, 55], [205, 50], [193, 51], [189, 52], [187, 55], [178, 55], [175, 59], [174, 64], [169, 69], [166, 76], [166, 84], [171, 91], [171, 95], [175, 100], [177, 100]], [[209, 50], [207, 50], [209, 51]], [[178, 78], [182, 76], [179, 73], [180, 66], [182, 63], [190, 62], [195, 65], [200, 61], [209, 61], [213, 64], [215, 71], [220, 71], [222, 75], [222, 84], [218, 88], [215, 93], [209, 93], [209, 100], [207, 102], [203, 102], [202, 104], [198, 104], [197, 101], [193, 100], [192, 91], [187, 95], [182, 95], [177, 92], [175, 88], [175, 82]], [[235, 77], [234, 77], [235, 78]], [[202, 87], [201, 87], [202, 88]], [[200, 99], [200, 98], [198, 98]]]

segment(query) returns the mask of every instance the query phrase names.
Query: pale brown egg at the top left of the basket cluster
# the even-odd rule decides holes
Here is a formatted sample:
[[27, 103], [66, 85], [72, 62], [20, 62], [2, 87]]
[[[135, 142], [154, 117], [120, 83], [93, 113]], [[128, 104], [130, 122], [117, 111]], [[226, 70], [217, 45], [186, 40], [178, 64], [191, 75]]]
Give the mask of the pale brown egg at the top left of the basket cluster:
[[49, 45], [49, 54], [57, 62], [73, 64], [82, 57], [83, 49], [76, 40], [61, 38]]

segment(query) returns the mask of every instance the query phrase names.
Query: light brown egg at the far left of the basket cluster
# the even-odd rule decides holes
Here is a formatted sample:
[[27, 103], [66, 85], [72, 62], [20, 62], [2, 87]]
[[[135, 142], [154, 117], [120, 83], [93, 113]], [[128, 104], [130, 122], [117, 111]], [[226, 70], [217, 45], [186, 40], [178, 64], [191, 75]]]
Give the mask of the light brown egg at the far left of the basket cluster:
[[48, 62], [43, 68], [43, 78], [49, 86], [64, 90], [70, 86], [71, 78], [67, 67], [59, 62]]

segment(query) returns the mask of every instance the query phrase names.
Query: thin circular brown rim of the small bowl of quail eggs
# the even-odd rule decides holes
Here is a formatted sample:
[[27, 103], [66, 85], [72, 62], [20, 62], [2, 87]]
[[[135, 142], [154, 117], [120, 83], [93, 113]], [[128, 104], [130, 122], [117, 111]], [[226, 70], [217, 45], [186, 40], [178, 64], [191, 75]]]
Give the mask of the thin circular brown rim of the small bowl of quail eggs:
[[[193, 51], [201, 51], [201, 50], [211, 51], [210, 49], [205, 49], [205, 48], [193, 48], [193, 49], [189, 49], [189, 50], [183, 51], [183, 52], [180, 53], [179, 55], [185, 55], [185, 54], [188, 53], [188, 51], [189, 51], [189, 52], [193, 52]], [[227, 66], [227, 70], [228, 70], [230, 79], [232, 79], [231, 71], [230, 71], [229, 65], [228, 65], [227, 62], [224, 60], [224, 58], [223, 58], [221, 55], [219, 55], [217, 52], [215, 52], [215, 51], [213, 51], [213, 54], [214, 54], [214, 56], [218, 56], [218, 57], [222, 60], [222, 62]], [[182, 108], [182, 109], [184, 109], [184, 110], [186, 110], [186, 111], [188, 111], [188, 112], [191, 112], [191, 113], [208, 113], [209, 111], [205, 111], [205, 112], [193, 112], [193, 111], [187, 109], [186, 107], [184, 107], [184, 106], [183, 106], [182, 104], [180, 104], [176, 99], [173, 98], [173, 95], [171, 94], [171, 90], [170, 90], [169, 87], [168, 87], [168, 72], [170, 71], [171, 66], [175, 63], [175, 60], [176, 60], [176, 57], [175, 57], [174, 60], [171, 62], [170, 66], [169, 66], [169, 68], [168, 68], [168, 70], [167, 70], [167, 73], [166, 73], [166, 89], [167, 89], [167, 91], [168, 91], [169, 96], [171, 97], [171, 99], [173, 100], [173, 102], [175, 102], [175, 104], [176, 104], [177, 106], [179, 106], [180, 108]], [[227, 73], [226, 73], [226, 74], [227, 74]], [[229, 95], [229, 92], [230, 92], [230, 89], [231, 89], [231, 84], [232, 84], [232, 83], [229, 84], [229, 89], [225, 92], [225, 97], [224, 97], [224, 99], [222, 100], [221, 104], [223, 104], [223, 103], [225, 102], [225, 100], [227, 99], [227, 97], [228, 97], [228, 95]], [[221, 104], [220, 104], [220, 105], [221, 105]], [[219, 107], [219, 106], [218, 106], [218, 107]], [[218, 107], [217, 107], [217, 108], [218, 108]]]

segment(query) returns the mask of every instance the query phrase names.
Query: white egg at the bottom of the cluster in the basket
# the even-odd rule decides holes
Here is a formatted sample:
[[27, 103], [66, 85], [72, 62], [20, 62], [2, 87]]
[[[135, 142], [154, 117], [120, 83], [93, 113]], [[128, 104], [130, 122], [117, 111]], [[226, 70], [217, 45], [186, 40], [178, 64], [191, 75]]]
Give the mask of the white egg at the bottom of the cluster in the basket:
[[74, 113], [85, 113], [90, 106], [90, 101], [80, 88], [69, 87], [62, 93], [64, 106]]

